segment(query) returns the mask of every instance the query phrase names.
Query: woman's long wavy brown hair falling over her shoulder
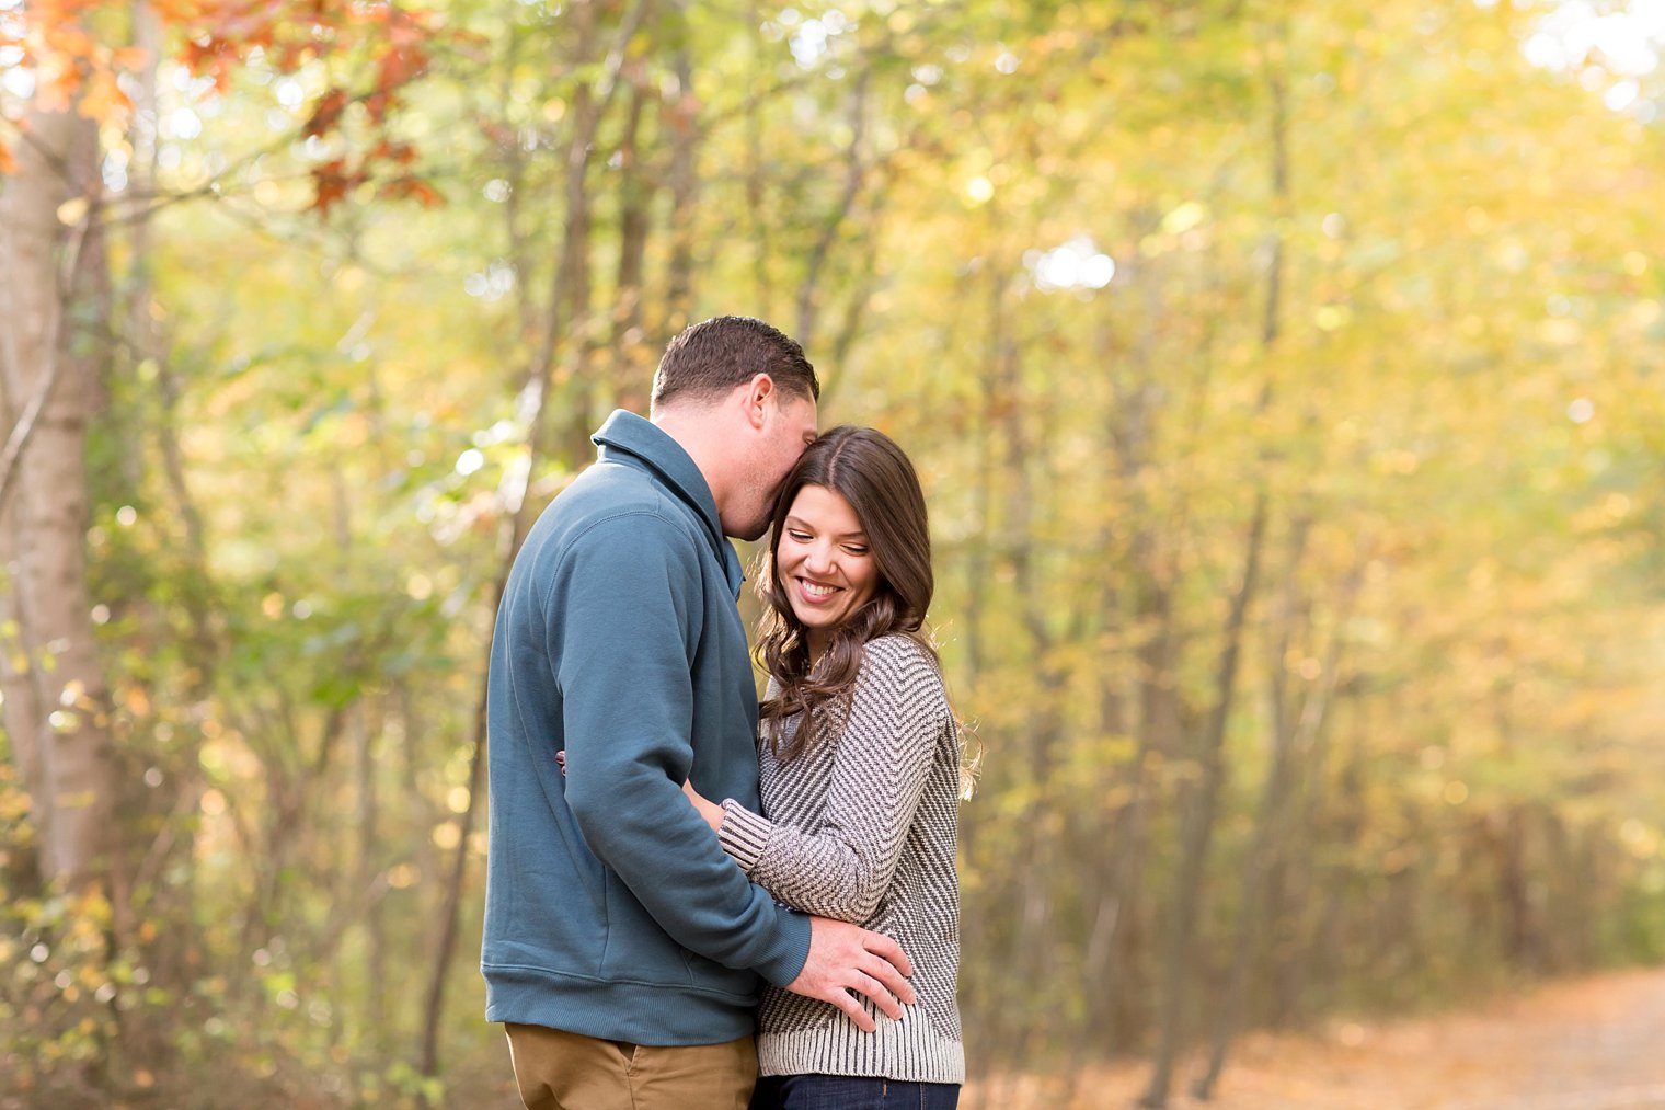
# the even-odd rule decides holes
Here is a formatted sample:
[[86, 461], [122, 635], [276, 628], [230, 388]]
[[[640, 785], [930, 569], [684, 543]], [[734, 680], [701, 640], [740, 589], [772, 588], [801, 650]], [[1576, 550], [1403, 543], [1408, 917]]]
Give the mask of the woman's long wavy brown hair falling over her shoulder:
[[[832, 490], [856, 510], [879, 585], [844, 623], [832, 628], [826, 652], [809, 665], [809, 637], [793, 612], [779, 578], [779, 547], [786, 515], [806, 485]], [[761, 707], [763, 735], [776, 757], [789, 760], [814, 738], [829, 707], [841, 705], [856, 685], [869, 640], [902, 633], [936, 658], [926, 632], [926, 610], [936, 578], [931, 573], [931, 527], [919, 475], [891, 437], [874, 428], [839, 425], [804, 450], [774, 503], [769, 547], [759, 560], [758, 593], [764, 613], [758, 627], [758, 662], [779, 690]], [[786, 742], [786, 722], [803, 713]], [[839, 723], [842, 727], [842, 723]]]

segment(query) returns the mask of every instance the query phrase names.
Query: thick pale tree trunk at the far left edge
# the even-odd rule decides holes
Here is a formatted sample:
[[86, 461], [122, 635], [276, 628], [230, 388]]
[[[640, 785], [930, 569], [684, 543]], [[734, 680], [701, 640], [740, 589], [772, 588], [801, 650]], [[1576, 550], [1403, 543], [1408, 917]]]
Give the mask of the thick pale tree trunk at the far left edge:
[[[33, 113], [18, 172], [0, 192], [0, 373], [17, 445], [8, 525], [10, 612], [22, 668], [7, 687], [33, 697], [5, 702], [7, 735], [33, 783], [40, 873], [110, 897], [117, 768], [110, 697], [87, 597], [87, 423], [98, 390], [78, 357], [73, 298], [102, 265], [90, 232], [97, 207], [97, 128], [75, 113]], [[72, 200], [83, 205], [77, 213]], [[73, 218], [70, 218], [73, 217]], [[67, 223], [68, 222], [68, 223]]]

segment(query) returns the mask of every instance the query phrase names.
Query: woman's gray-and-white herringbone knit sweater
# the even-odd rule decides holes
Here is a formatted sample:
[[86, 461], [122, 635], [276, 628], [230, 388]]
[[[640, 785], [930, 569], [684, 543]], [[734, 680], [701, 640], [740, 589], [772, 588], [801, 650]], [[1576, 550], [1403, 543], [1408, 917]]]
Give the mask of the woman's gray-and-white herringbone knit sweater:
[[947, 693], [931, 655], [889, 635], [866, 645], [842, 708], [818, 713], [819, 735], [793, 760], [761, 747], [768, 818], [729, 798], [718, 837], [779, 902], [894, 938], [919, 1002], [897, 1022], [869, 1005], [879, 1032], [862, 1033], [826, 1002], [766, 987], [759, 1072], [961, 1083], [959, 737]]

